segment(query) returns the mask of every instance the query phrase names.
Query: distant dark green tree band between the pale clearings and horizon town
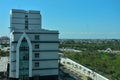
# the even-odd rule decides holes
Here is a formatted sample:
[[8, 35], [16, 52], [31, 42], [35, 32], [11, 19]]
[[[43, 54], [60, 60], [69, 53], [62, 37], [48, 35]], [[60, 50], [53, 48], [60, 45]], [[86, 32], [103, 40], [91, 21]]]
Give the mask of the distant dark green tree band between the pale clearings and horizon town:
[[60, 44], [60, 48], [67, 47], [67, 48], [74, 48], [80, 50], [102, 50], [111, 48], [112, 50], [120, 50], [120, 41], [102, 41], [102, 42], [75, 42], [74, 40], [64, 41]]

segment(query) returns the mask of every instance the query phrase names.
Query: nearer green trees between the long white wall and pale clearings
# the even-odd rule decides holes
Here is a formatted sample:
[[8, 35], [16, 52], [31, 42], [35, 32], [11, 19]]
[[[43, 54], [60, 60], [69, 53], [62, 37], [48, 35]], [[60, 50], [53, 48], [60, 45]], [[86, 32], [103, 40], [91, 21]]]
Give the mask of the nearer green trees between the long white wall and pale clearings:
[[109, 79], [120, 80], [120, 55], [97, 52], [64, 53], [67, 57]]

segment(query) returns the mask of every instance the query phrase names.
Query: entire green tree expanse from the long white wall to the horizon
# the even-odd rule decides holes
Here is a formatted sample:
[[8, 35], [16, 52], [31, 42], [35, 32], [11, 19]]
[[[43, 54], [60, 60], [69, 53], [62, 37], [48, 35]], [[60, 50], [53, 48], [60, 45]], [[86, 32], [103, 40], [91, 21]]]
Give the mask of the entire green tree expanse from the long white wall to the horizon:
[[[120, 50], [120, 42], [106, 43], [80, 43], [80, 42], [64, 42], [60, 44], [61, 48], [74, 48], [82, 50], [82, 52], [64, 51], [65, 56], [74, 61], [106, 76], [110, 80], [120, 80], [120, 54], [111, 54], [98, 52], [98, 49], [111, 48], [112, 50]], [[84, 50], [86, 49], [86, 50]]]

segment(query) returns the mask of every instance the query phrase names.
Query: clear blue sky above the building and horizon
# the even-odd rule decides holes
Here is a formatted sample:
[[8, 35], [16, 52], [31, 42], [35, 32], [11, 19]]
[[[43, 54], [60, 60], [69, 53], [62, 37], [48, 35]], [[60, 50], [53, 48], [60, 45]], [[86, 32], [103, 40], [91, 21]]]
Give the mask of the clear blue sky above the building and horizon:
[[9, 36], [11, 9], [41, 11], [42, 28], [59, 38], [120, 39], [120, 0], [0, 0], [0, 36]]

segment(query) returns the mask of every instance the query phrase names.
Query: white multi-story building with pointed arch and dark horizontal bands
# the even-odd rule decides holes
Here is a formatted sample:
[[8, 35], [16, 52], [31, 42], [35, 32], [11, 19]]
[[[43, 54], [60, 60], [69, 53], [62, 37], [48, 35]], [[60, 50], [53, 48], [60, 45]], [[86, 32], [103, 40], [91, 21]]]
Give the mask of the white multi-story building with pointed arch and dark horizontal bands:
[[10, 11], [11, 80], [58, 80], [58, 31], [41, 28], [40, 11]]

